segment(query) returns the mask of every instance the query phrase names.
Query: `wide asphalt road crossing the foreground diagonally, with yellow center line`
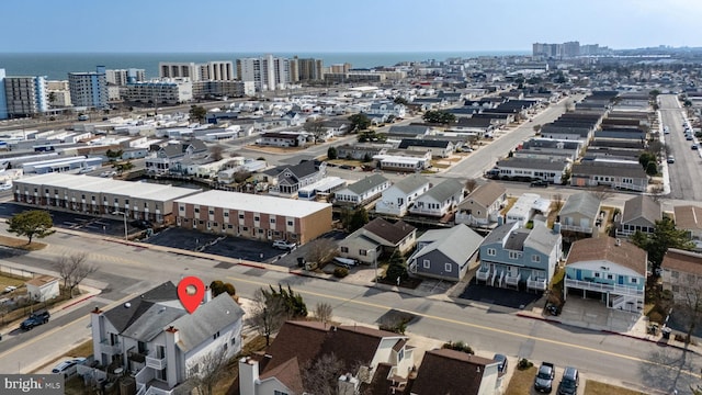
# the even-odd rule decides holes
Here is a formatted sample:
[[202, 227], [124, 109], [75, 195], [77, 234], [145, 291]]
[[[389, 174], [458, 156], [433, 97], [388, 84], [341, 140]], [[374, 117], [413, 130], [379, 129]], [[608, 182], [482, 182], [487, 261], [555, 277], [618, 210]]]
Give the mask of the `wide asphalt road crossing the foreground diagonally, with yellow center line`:
[[[217, 268], [217, 261], [210, 259], [158, 252], [81, 236], [56, 234], [46, 241], [49, 247], [44, 250], [9, 257], [7, 260], [46, 268], [63, 253], [90, 251], [91, 262], [101, 268], [93, 280], [110, 283], [110, 289], [120, 291], [118, 295], [144, 291], [167, 280], [177, 282], [184, 275], [199, 275], [206, 283], [215, 279], [230, 281], [242, 297], [251, 297], [256, 290], [268, 284], [291, 284], [308, 306], [327, 302], [332, 305], [335, 315], [358, 323], [377, 324], [388, 311], [400, 309], [416, 317], [408, 326], [409, 332], [434, 339], [464, 340], [478, 350], [500, 351], [533, 361], [576, 365], [584, 373], [616, 377], [632, 383], [634, 387], [670, 390], [671, 380], [677, 375], [670, 365], [675, 366], [673, 361], [681, 357], [681, 352], [673, 348], [521, 318], [480, 304], [465, 306], [451, 301], [415, 297], [372, 286], [245, 266], [223, 269]], [[101, 297], [117, 300], [118, 295], [107, 293]], [[682, 383], [698, 380], [701, 364], [700, 356], [688, 356], [679, 388], [686, 387], [680, 385]], [[690, 372], [694, 372], [694, 376]]]

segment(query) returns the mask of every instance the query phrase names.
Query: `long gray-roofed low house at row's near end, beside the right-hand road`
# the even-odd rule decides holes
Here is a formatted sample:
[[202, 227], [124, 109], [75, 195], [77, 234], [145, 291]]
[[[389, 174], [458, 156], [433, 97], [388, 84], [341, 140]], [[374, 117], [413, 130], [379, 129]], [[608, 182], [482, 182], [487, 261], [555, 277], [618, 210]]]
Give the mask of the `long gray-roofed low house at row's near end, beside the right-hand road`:
[[588, 160], [573, 165], [570, 185], [607, 185], [644, 192], [648, 188], [648, 174], [639, 163]]

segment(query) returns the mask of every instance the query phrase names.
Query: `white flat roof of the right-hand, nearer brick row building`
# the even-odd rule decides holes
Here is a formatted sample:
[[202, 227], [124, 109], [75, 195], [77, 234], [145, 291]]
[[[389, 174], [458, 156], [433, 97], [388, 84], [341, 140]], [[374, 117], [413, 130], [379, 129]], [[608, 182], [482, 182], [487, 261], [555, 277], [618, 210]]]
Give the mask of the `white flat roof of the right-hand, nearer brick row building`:
[[329, 203], [298, 201], [286, 198], [257, 195], [250, 193], [207, 191], [178, 199], [174, 203], [200, 204], [227, 210], [241, 210], [261, 214], [304, 217], [330, 207]]

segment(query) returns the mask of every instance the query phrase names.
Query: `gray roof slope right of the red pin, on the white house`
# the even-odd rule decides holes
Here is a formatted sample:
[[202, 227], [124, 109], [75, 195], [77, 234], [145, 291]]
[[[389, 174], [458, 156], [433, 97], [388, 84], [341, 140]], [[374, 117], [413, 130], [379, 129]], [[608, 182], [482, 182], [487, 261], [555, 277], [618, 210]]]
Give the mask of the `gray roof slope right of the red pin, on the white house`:
[[170, 325], [178, 329], [180, 335], [178, 347], [182, 351], [189, 351], [241, 317], [241, 307], [229, 294], [223, 293], [197, 307], [193, 314], [183, 315]]

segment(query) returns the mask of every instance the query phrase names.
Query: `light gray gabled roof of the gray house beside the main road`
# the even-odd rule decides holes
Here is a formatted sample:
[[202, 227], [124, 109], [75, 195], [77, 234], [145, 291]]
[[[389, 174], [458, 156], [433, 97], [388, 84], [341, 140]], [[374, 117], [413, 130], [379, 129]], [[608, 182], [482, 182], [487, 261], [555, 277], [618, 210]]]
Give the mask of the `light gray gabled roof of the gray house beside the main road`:
[[458, 224], [450, 229], [427, 230], [417, 239], [418, 244], [422, 241], [431, 244], [417, 251], [417, 256], [440, 250], [452, 261], [463, 263], [480, 247], [483, 236], [466, 225]]

